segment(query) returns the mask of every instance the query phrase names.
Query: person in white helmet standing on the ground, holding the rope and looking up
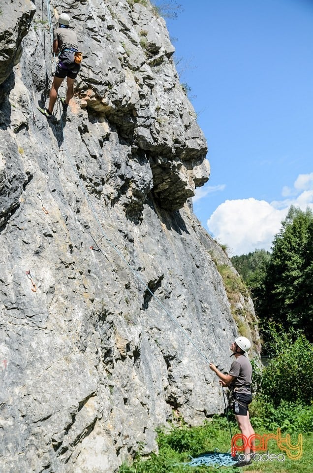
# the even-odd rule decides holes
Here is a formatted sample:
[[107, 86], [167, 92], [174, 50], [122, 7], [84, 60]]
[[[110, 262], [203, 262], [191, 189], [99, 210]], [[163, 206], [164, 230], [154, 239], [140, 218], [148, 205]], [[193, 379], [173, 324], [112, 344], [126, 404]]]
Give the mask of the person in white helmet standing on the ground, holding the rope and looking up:
[[[220, 372], [213, 363], [209, 365], [211, 370], [219, 376], [219, 384], [222, 387], [229, 387], [231, 392], [231, 405], [233, 406], [238, 427], [241, 434], [246, 436], [247, 439], [249, 439], [251, 435], [254, 435], [254, 430], [250, 423], [248, 407], [252, 401], [252, 367], [247, 353], [250, 347], [250, 340], [246, 337], [238, 337], [230, 345], [230, 349], [233, 352], [230, 356], [234, 356], [235, 360], [232, 362], [228, 374]], [[253, 444], [252, 441], [252, 445]], [[234, 466], [244, 467], [250, 465], [251, 457], [254, 452], [250, 451], [249, 445], [247, 445], [244, 451], [245, 460], [238, 461]]]

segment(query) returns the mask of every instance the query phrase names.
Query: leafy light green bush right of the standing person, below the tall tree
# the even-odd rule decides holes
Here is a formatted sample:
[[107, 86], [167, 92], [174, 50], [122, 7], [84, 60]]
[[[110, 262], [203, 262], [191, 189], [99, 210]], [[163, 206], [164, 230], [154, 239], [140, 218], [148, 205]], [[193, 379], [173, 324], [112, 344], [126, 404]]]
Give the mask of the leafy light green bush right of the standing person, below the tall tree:
[[302, 333], [285, 333], [270, 326], [270, 352], [264, 368], [261, 392], [274, 405], [281, 401], [310, 405], [312, 401], [313, 344]]

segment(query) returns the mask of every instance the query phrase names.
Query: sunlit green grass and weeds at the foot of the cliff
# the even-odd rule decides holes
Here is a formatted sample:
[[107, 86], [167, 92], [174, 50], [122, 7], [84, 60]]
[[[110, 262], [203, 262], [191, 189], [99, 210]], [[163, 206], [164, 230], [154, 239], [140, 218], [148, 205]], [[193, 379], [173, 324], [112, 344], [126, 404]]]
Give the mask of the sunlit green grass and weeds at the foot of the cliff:
[[[236, 424], [231, 421], [232, 434], [239, 433]], [[274, 431], [273, 431], [274, 432]], [[264, 426], [257, 433], [270, 433]], [[276, 433], [276, 432], [274, 432]], [[285, 433], [282, 435], [285, 437]], [[291, 435], [291, 443], [296, 444], [298, 433]], [[219, 449], [226, 453], [230, 450], [230, 433], [227, 420], [224, 416], [214, 416], [211, 421], [201, 427], [172, 427], [169, 433], [158, 432], [159, 453], [152, 453], [148, 459], [137, 456], [132, 465], [123, 464], [119, 473], [213, 473], [218, 470], [214, 467], [188, 467], [183, 465], [204, 453]], [[270, 454], [283, 454], [275, 440], [269, 442]], [[261, 452], [264, 454], [264, 452]], [[290, 460], [284, 455], [284, 461], [253, 461], [252, 465], [244, 468], [222, 467], [221, 473], [311, 473], [313, 465], [313, 433], [303, 434], [303, 454], [299, 460]], [[266, 457], [263, 457], [265, 459]], [[279, 457], [282, 459], [282, 456]]]

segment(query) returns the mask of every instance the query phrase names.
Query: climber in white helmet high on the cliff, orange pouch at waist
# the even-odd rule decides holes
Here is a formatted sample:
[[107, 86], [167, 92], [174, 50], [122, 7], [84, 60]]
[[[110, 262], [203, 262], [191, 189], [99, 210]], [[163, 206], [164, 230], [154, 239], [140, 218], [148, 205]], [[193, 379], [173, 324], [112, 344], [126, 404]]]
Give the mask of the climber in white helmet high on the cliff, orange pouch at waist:
[[66, 97], [61, 99], [63, 108], [67, 108], [69, 101], [74, 95], [74, 80], [81, 68], [82, 53], [78, 51], [76, 33], [69, 28], [70, 17], [62, 13], [59, 17], [59, 27], [53, 32], [53, 52], [59, 53], [59, 63], [56, 68], [51, 86], [49, 105], [47, 108], [39, 108], [47, 118], [53, 116], [53, 108], [58, 98], [58, 90], [63, 79], [67, 77]]

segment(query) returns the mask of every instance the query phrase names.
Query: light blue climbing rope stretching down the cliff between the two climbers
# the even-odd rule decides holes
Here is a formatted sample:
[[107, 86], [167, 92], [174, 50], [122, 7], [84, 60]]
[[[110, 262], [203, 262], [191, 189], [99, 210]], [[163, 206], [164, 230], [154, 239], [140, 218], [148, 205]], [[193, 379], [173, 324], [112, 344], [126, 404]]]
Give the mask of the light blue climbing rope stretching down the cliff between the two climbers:
[[[48, 22], [49, 22], [49, 27], [50, 27], [50, 31], [52, 31], [52, 22], [51, 22], [51, 15], [50, 15], [50, 6], [49, 6], [49, 0], [47, 0], [47, 9], [48, 9]], [[98, 219], [98, 216], [94, 210], [94, 207], [93, 207], [93, 204], [92, 202], [90, 201], [90, 198], [86, 192], [86, 189], [85, 187], [83, 186], [82, 182], [81, 182], [81, 178], [79, 176], [79, 173], [77, 171], [77, 168], [76, 166], [74, 166], [74, 163], [69, 155], [69, 153], [67, 152], [67, 146], [66, 146], [66, 138], [64, 136], [64, 129], [63, 129], [63, 121], [62, 121], [62, 109], [61, 109], [61, 101], [59, 99], [58, 101], [58, 104], [59, 104], [59, 109], [60, 109], [60, 114], [61, 114], [61, 120], [60, 120], [60, 123], [61, 123], [61, 129], [62, 129], [62, 135], [63, 135], [63, 142], [65, 144], [65, 149], [63, 150], [63, 152], [65, 152], [66, 156], [67, 156], [67, 159], [74, 171], [74, 173], [76, 174], [76, 176], [78, 177], [78, 183], [79, 183], [79, 186], [80, 188], [82, 189], [82, 192], [87, 200], [87, 203], [92, 211], [92, 214], [94, 215], [94, 219], [100, 229], [100, 232], [102, 234], [102, 236], [106, 239], [107, 243], [111, 246], [111, 248], [118, 254], [118, 256], [123, 260], [123, 262], [125, 263], [125, 265], [128, 267], [128, 269], [133, 273], [133, 275], [139, 280], [139, 282], [143, 285], [143, 287], [151, 294], [151, 296], [156, 300], [157, 304], [164, 310], [164, 312], [167, 314], [167, 316], [174, 322], [174, 324], [180, 329], [180, 331], [184, 334], [184, 336], [188, 339], [188, 341], [194, 346], [194, 348], [197, 350], [197, 352], [199, 353], [199, 355], [208, 363], [210, 364], [210, 361], [208, 360], [208, 358], [204, 355], [204, 353], [202, 353], [202, 351], [198, 348], [198, 346], [196, 345], [196, 343], [188, 336], [187, 332], [183, 329], [183, 327], [177, 322], [177, 320], [171, 315], [171, 313], [167, 310], [167, 308], [162, 304], [162, 302], [156, 297], [156, 295], [153, 293], [153, 291], [149, 288], [148, 284], [146, 284], [142, 278], [140, 277], [140, 275], [132, 268], [132, 266], [126, 261], [125, 257], [122, 255], [122, 253], [118, 250], [118, 248], [111, 242], [111, 240], [109, 239], [109, 237], [106, 235], [99, 219]]]

